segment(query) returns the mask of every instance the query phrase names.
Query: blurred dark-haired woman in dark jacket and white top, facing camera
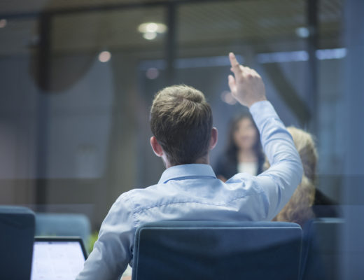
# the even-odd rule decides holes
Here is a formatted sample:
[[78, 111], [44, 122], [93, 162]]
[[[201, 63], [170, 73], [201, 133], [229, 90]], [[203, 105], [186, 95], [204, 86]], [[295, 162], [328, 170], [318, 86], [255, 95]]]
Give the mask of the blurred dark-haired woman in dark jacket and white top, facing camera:
[[253, 176], [262, 172], [265, 157], [260, 145], [257, 127], [250, 113], [243, 113], [233, 119], [230, 125], [228, 147], [217, 162], [216, 176], [222, 181], [238, 172]]

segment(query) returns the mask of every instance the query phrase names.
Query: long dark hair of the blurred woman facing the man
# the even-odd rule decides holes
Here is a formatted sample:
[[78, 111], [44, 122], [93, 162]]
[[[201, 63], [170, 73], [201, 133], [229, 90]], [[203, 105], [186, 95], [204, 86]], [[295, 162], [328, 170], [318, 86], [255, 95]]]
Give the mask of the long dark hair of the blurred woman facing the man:
[[248, 118], [251, 120], [251, 123], [253, 123], [253, 126], [255, 128], [257, 139], [255, 141], [255, 144], [253, 146], [253, 150], [255, 152], [255, 155], [257, 155], [258, 162], [264, 162], [264, 153], [262, 152], [262, 145], [260, 144], [260, 137], [259, 137], [259, 130], [256, 127], [253, 118], [251, 117], [251, 114], [246, 111], [244, 113], [240, 113], [238, 116], [232, 119], [230, 122], [230, 129], [229, 129], [229, 139], [228, 139], [228, 146], [226, 148], [226, 155], [228, 156], [228, 159], [237, 163], [237, 151], [238, 147], [235, 144], [234, 141], [234, 133], [235, 130], [237, 130], [237, 125], [240, 120]]

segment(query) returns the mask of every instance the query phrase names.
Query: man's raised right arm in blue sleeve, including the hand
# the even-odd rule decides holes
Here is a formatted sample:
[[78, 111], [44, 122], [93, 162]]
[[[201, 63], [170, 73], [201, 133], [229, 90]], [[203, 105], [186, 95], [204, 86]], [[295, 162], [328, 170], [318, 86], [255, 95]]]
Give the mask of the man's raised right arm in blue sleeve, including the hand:
[[255, 177], [255, 183], [265, 194], [267, 207], [264, 218], [269, 221], [286, 205], [302, 180], [302, 163], [292, 137], [265, 97], [265, 85], [260, 75], [253, 69], [241, 66], [232, 52], [229, 58], [235, 76], [229, 76], [232, 96], [249, 107], [271, 165], [267, 171]]

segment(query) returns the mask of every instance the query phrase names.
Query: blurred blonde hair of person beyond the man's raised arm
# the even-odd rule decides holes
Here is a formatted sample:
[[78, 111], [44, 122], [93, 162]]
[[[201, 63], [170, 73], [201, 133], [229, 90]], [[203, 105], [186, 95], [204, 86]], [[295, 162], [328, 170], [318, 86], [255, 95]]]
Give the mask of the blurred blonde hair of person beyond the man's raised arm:
[[273, 219], [273, 221], [286, 221], [298, 223], [303, 226], [310, 218], [314, 218], [312, 204], [315, 198], [315, 173], [317, 163], [317, 151], [314, 139], [308, 132], [304, 132], [296, 127], [287, 127], [288, 132], [293, 137], [293, 142], [297, 148], [302, 161], [304, 174], [300, 185], [293, 193], [290, 201]]

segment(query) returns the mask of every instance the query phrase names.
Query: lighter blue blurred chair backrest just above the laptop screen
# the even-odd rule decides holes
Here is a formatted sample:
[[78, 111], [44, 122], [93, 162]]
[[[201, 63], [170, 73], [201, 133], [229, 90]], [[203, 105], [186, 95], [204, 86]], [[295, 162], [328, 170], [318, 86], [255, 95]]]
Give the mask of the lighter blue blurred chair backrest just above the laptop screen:
[[78, 236], [87, 244], [90, 220], [83, 214], [36, 213], [36, 236]]

